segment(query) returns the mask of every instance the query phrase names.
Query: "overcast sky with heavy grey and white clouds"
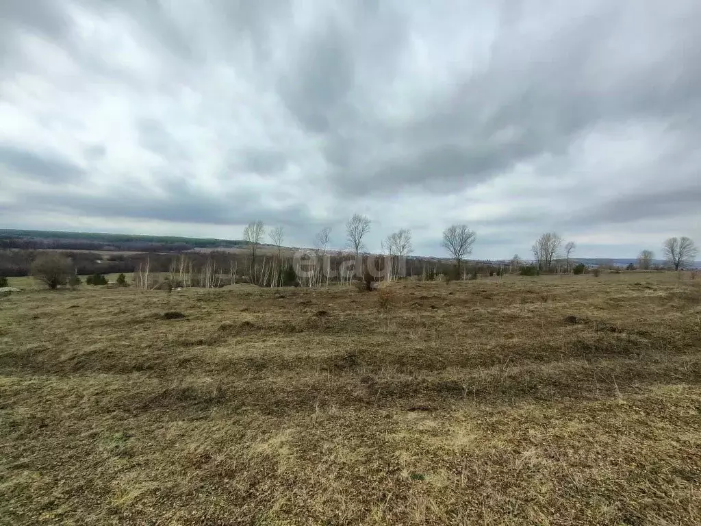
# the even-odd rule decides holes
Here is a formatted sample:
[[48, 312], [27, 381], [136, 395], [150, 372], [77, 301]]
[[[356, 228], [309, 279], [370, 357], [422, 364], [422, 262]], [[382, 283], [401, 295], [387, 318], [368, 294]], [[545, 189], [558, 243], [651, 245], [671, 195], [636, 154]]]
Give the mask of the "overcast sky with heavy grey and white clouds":
[[0, 227], [701, 242], [701, 1], [1, 0]]

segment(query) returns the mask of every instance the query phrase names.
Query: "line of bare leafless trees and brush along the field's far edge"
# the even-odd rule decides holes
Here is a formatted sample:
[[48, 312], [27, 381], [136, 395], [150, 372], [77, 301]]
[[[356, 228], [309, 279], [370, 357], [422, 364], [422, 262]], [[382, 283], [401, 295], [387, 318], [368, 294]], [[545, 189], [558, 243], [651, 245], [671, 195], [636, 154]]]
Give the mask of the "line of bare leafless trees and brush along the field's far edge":
[[[508, 264], [465, 261], [472, 254], [477, 233], [466, 224], [452, 224], [442, 233], [442, 247], [446, 259], [412, 257], [414, 247], [411, 230], [400, 229], [381, 241], [381, 257], [365, 253], [365, 240], [372, 229], [372, 221], [362, 214], [354, 214], [345, 225], [345, 250], [330, 250], [332, 229], [325, 227], [314, 236], [314, 248], [290, 255], [285, 248], [285, 229], [268, 229], [261, 221], [251, 222], [243, 230], [243, 251], [224, 250], [182, 252], [181, 254], [139, 253], [108, 254], [97, 252], [46, 252], [4, 250], [0, 252], [0, 276], [26, 275], [32, 271], [32, 262], [43, 261], [42, 268], [57, 268], [59, 277], [50, 283], [62, 284], [78, 274], [133, 273], [137, 288], [153, 288], [167, 274], [164, 283], [169, 287], [199, 286], [216, 288], [230, 283], [247, 282], [267, 287], [285, 285], [320, 286], [331, 281], [350, 285], [355, 280], [378, 281], [418, 276], [432, 279], [467, 279], [477, 274], [502, 274], [520, 271], [531, 274], [525, 267], [541, 272], [582, 271], [573, 265], [576, 244], [565, 242], [556, 232], [542, 234], [533, 244], [533, 259], [529, 262], [518, 255]], [[265, 250], [263, 250], [265, 248]], [[669, 267], [683, 269], [693, 264], [697, 248], [688, 237], [669, 238], [662, 245], [662, 253]], [[654, 252], [642, 250], [639, 269], [651, 269]], [[103, 259], [104, 258], [104, 259]], [[378, 278], [378, 276], [380, 276]], [[51, 285], [50, 285], [51, 286]]]

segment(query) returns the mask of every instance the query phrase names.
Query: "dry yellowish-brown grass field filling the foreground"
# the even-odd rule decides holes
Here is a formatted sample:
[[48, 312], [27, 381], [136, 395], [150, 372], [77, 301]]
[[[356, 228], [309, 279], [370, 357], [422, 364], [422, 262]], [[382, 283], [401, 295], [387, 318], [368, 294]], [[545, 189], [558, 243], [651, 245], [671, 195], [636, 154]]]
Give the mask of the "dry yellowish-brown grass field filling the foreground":
[[701, 283], [13, 294], [0, 524], [701, 524]]

